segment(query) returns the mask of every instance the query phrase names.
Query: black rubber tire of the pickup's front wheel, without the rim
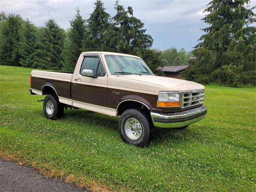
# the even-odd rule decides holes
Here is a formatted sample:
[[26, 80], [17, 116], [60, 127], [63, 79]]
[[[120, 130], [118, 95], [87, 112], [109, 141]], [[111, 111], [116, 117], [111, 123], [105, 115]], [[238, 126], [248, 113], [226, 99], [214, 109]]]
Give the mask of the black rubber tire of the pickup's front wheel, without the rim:
[[[125, 131], [125, 123], [130, 118], [135, 118], [141, 125], [142, 133], [140, 138], [137, 140], [132, 140], [126, 134]], [[154, 126], [152, 123], [152, 119], [150, 115], [142, 111], [140, 109], [128, 109], [122, 113], [118, 122], [118, 131], [119, 134], [124, 142], [129, 144], [138, 146], [138, 147], [145, 147], [152, 141], [154, 137]]]

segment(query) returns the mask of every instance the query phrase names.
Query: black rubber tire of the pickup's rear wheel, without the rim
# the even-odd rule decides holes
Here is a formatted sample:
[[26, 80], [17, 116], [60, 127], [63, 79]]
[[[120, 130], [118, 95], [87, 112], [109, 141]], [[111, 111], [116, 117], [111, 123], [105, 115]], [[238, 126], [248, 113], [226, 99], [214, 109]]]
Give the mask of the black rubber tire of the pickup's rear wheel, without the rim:
[[[47, 110], [46, 110], [46, 104], [49, 100], [53, 104], [53, 113], [52, 114], [48, 114]], [[48, 95], [45, 96], [43, 109], [44, 109], [44, 115], [46, 116], [46, 118], [51, 119], [51, 120], [60, 119], [63, 116], [63, 113], [64, 113], [63, 104], [59, 102], [58, 96], [53, 95], [53, 94], [48, 94]]]

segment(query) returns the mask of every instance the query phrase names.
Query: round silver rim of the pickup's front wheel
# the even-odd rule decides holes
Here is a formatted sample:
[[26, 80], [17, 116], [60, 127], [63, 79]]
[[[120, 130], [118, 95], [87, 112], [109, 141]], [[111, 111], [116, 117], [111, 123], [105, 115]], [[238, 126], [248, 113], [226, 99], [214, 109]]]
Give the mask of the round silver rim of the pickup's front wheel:
[[130, 140], [138, 140], [142, 134], [142, 126], [136, 118], [129, 118], [124, 123], [124, 132]]

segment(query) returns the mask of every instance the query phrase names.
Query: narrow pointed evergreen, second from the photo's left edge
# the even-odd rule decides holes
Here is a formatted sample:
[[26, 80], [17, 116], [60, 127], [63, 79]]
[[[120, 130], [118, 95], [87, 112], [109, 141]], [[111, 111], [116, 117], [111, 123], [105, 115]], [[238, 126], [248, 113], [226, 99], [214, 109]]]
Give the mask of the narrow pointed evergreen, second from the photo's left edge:
[[28, 18], [20, 30], [19, 54], [20, 64], [24, 67], [32, 67], [37, 49], [37, 29]]

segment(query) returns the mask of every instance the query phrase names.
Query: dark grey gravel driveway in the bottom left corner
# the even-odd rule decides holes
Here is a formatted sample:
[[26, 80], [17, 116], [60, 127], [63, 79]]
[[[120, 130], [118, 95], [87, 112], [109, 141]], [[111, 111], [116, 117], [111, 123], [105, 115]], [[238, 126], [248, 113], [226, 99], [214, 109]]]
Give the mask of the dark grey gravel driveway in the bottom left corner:
[[31, 166], [0, 159], [0, 192], [89, 192], [62, 180], [44, 178]]

